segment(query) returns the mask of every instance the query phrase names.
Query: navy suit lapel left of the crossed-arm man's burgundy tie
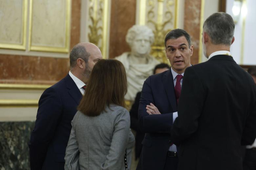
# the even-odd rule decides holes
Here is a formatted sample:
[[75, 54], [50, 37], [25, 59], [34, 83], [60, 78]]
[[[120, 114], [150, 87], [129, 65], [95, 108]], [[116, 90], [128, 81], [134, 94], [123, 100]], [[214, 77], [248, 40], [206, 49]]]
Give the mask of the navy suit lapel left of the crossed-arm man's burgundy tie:
[[169, 69], [163, 76], [163, 86], [165, 88], [169, 103], [171, 104], [173, 111], [176, 111], [177, 106], [171, 69]]

